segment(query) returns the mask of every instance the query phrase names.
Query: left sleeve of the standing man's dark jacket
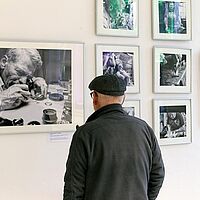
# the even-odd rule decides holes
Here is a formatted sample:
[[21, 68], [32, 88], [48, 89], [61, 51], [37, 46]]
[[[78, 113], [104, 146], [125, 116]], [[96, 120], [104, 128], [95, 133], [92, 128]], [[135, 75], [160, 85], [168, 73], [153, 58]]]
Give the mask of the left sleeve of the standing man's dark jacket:
[[84, 199], [87, 156], [80, 133], [78, 129], [72, 138], [64, 176], [63, 200]]

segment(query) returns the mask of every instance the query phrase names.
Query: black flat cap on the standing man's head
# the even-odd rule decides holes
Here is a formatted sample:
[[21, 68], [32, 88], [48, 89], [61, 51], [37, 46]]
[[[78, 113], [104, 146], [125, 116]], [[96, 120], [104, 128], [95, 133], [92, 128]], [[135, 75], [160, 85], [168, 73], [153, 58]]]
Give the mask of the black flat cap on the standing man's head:
[[116, 75], [101, 75], [94, 78], [89, 84], [90, 90], [110, 96], [122, 96], [126, 91], [126, 83]]

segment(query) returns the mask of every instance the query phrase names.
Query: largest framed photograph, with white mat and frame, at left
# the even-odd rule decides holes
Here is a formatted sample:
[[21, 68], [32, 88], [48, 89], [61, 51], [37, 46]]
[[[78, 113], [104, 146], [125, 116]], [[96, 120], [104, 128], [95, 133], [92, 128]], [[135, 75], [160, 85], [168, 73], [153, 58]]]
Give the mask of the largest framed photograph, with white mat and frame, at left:
[[83, 44], [0, 43], [0, 133], [65, 132], [82, 123]]

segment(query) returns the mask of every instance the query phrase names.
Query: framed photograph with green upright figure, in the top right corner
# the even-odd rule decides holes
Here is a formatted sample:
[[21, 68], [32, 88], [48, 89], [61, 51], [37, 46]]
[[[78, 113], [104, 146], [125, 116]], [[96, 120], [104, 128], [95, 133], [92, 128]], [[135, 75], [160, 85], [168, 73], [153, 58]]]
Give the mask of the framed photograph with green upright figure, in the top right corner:
[[153, 39], [191, 40], [191, 0], [153, 0]]

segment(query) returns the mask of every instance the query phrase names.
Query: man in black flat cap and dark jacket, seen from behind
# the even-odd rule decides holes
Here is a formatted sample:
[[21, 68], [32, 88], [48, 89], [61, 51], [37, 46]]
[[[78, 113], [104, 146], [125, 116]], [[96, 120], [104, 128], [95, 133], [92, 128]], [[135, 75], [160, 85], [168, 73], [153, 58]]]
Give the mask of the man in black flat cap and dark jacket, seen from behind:
[[64, 200], [155, 200], [164, 165], [153, 130], [122, 109], [125, 82], [116, 75], [90, 84], [95, 112], [75, 132]]

